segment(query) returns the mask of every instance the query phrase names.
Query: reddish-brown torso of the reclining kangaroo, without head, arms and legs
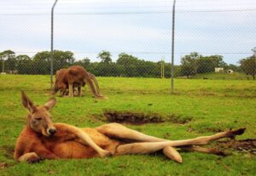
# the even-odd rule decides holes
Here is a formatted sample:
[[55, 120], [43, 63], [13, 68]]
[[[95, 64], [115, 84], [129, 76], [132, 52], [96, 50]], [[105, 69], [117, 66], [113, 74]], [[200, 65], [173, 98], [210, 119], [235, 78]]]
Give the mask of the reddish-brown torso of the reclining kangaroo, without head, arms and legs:
[[[20, 156], [35, 152], [38, 159], [59, 159], [59, 158], [90, 158], [100, 156], [96, 150], [89, 145], [83, 144], [79, 137], [73, 133], [66, 124], [55, 123], [56, 133], [52, 137], [46, 137], [41, 133], [36, 133], [32, 128], [26, 127], [20, 133], [16, 144], [15, 159]], [[102, 149], [114, 151], [114, 145], [119, 145], [118, 141], [109, 139], [93, 128], [84, 128], [96, 145]]]

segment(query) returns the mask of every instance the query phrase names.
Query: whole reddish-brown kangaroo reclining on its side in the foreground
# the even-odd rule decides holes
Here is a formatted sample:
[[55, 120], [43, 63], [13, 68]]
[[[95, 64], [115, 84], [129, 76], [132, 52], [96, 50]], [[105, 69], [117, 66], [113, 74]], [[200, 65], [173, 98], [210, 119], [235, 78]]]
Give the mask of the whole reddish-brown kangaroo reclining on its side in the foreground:
[[53, 123], [49, 110], [55, 105], [55, 99], [36, 106], [21, 92], [21, 101], [29, 113], [26, 128], [20, 133], [15, 146], [15, 159], [20, 162], [148, 154], [158, 150], [162, 150], [170, 159], [182, 162], [182, 157], [173, 147], [206, 145], [212, 140], [234, 137], [245, 130], [228, 130], [195, 139], [166, 140], [139, 133], [118, 123], [97, 128], [76, 128], [65, 123]]

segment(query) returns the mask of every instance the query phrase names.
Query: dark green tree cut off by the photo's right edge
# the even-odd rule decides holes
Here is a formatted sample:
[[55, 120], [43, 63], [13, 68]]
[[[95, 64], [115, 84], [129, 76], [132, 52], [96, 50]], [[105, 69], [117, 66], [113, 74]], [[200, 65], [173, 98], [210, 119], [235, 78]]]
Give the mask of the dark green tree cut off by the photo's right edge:
[[247, 75], [251, 75], [253, 80], [255, 80], [256, 76], [256, 48], [252, 49], [253, 55], [251, 57], [247, 57], [246, 59], [240, 60], [241, 69], [245, 71]]

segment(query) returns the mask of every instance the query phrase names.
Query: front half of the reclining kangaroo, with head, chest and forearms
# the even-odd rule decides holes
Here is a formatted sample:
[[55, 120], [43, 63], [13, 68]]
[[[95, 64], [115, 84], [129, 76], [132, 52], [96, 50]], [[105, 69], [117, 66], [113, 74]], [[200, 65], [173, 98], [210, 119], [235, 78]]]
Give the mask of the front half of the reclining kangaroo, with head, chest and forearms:
[[[51, 122], [49, 110], [55, 105], [55, 99], [50, 99], [44, 105], [36, 106], [22, 92], [21, 101], [29, 114], [26, 128], [22, 130], [17, 140], [15, 159], [33, 162], [35, 158], [39, 160], [40, 158], [56, 159], [110, 155], [108, 150], [102, 150], [99, 145], [91, 140], [88, 133], [86, 133], [87, 131], [91, 133], [90, 129], [80, 129], [67, 124]], [[84, 150], [88, 151], [83, 152], [82, 156], [75, 151], [72, 154], [73, 150], [80, 151], [83, 146]], [[62, 151], [67, 152], [62, 153]], [[32, 154], [27, 155], [26, 153]], [[25, 154], [26, 156], [24, 156]]]

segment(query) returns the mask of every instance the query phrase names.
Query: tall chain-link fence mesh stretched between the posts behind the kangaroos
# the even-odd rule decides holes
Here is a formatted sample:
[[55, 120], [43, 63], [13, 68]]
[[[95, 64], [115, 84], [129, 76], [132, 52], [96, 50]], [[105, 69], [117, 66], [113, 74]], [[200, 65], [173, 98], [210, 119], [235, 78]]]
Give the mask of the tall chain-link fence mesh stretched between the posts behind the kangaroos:
[[[48, 75], [54, 2], [12, 1], [0, 3], [9, 7], [0, 13], [1, 72]], [[177, 1], [174, 76], [255, 78], [255, 14], [253, 1]], [[171, 77], [172, 1], [60, 0], [54, 25], [54, 73], [82, 65], [101, 77]]]

